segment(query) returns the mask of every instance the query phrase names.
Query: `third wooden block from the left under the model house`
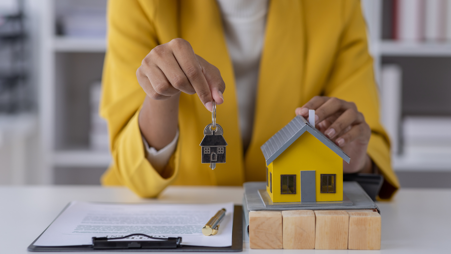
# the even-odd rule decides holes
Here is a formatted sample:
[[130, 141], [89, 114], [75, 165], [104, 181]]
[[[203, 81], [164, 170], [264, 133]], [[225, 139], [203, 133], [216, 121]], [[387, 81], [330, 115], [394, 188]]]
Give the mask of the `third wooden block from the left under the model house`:
[[348, 249], [348, 213], [315, 211], [315, 216], [315, 249]]

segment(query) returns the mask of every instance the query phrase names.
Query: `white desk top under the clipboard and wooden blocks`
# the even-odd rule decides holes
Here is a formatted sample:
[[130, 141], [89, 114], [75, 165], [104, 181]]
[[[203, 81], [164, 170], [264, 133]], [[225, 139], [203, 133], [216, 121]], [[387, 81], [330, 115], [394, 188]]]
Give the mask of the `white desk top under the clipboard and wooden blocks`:
[[[127, 188], [93, 186], [0, 186], [0, 253], [27, 253], [27, 247], [72, 201], [103, 202], [235, 202], [240, 187], [167, 188], [158, 199], [141, 199]], [[379, 202], [382, 215], [382, 249], [359, 250], [257, 250], [244, 253], [450, 253], [451, 189], [401, 189], [393, 202]], [[429, 209], [427, 207], [434, 207]], [[106, 252], [102, 252], [106, 253]], [[166, 252], [167, 253], [167, 252]]]

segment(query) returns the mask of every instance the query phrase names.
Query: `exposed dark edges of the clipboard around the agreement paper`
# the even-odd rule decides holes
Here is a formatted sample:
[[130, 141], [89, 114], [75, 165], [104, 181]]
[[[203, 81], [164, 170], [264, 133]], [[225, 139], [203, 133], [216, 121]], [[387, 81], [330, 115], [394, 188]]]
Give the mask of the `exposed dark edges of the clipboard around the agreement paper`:
[[[69, 205], [68, 205], [69, 206]], [[60, 212], [58, 216], [60, 216], [64, 210], [68, 207], [64, 207], [63, 211]], [[138, 249], [138, 248], [127, 248], [127, 249], [94, 249], [93, 245], [75, 245], [75, 246], [36, 246], [34, 243], [41, 237], [42, 234], [39, 235], [36, 240], [32, 242], [30, 246], [28, 246], [28, 251], [51, 251], [51, 252], [125, 252], [125, 251], [137, 251], [137, 252], [180, 252], [180, 251], [189, 251], [189, 252], [239, 252], [243, 251], [243, 215], [242, 206], [234, 206], [233, 213], [233, 227], [232, 227], [232, 245], [228, 247], [207, 247], [207, 246], [193, 246], [193, 245], [179, 245], [179, 247], [174, 249]], [[56, 216], [56, 218], [58, 218]], [[55, 220], [56, 220], [55, 218]], [[54, 220], [54, 221], [55, 221]], [[53, 221], [52, 221], [53, 223]], [[49, 225], [50, 226], [50, 225]], [[47, 227], [48, 228], [48, 227]], [[212, 236], [214, 237], [214, 236]]]

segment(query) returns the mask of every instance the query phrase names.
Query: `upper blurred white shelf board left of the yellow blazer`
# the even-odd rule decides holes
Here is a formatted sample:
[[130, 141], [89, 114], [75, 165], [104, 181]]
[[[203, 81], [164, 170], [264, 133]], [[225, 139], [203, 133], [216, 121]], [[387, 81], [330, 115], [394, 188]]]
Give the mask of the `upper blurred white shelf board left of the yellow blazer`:
[[55, 52], [99, 52], [106, 51], [105, 38], [74, 38], [57, 36], [53, 40]]

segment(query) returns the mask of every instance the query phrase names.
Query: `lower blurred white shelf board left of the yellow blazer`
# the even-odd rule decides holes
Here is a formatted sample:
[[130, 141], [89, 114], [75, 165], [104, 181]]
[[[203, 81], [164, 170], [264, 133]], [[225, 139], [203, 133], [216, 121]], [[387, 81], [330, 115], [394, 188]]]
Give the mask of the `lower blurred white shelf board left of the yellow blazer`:
[[107, 167], [110, 162], [110, 153], [103, 151], [55, 151], [53, 155], [53, 165], [60, 167]]

